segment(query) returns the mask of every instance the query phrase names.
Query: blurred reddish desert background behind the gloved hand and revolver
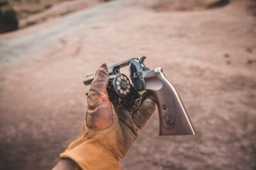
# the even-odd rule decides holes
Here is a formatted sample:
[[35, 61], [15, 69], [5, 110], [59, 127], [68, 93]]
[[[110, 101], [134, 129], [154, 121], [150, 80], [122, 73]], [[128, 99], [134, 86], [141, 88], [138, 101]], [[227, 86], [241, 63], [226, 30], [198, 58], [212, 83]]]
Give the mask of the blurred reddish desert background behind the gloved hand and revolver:
[[0, 169], [51, 169], [81, 132], [86, 74], [147, 56], [196, 136], [158, 136], [122, 169], [256, 169], [256, 1], [0, 0]]

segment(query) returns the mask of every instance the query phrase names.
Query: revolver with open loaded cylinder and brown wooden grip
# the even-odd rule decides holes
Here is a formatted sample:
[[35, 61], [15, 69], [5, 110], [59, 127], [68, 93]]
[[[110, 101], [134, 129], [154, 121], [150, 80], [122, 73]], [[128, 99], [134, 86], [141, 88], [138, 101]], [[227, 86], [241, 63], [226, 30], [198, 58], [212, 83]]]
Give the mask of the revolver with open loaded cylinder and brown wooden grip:
[[[151, 94], [159, 113], [159, 136], [195, 134], [188, 112], [172, 83], [167, 80], [161, 67], [149, 69], [146, 57], [132, 58], [108, 67], [108, 95], [110, 101], [118, 101], [127, 110], [139, 108], [145, 95]], [[120, 73], [129, 66], [130, 78]], [[94, 74], [87, 75], [84, 85], [90, 85]]]

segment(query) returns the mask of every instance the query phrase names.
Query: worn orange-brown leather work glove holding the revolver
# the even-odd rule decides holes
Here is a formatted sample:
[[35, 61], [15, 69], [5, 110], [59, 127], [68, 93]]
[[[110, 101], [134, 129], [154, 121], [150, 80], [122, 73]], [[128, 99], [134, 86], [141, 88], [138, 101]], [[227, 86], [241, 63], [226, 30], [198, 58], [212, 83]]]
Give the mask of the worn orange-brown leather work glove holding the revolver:
[[145, 97], [136, 111], [112, 104], [108, 82], [108, 67], [102, 64], [88, 93], [83, 131], [60, 155], [74, 160], [81, 169], [120, 169], [118, 160], [126, 155], [156, 108], [149, 97]]

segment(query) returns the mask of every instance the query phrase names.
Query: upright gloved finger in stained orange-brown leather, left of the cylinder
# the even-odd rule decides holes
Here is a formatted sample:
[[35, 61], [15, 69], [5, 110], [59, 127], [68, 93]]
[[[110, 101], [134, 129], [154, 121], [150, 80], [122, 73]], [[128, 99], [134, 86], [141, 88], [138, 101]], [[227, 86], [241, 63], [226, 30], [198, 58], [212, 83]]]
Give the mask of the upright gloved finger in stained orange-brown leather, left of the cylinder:
[[87, 97], [86, 125], [91, 129], [103, 129], [112, 123], [111, 102], [108, 97], [108, 66], [102, 64], [95, 73]]

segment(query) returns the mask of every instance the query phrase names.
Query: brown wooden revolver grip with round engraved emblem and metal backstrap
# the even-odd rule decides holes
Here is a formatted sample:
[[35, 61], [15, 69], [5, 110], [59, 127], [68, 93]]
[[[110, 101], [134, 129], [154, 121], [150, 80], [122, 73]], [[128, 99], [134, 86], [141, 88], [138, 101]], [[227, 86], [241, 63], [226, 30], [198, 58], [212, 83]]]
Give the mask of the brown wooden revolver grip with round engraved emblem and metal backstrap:
[[159, 135], [195, 134], [182, 99], [162, 71], [147, 74], [144, 79], [145, 90], [156, 99], [159, 113]]

